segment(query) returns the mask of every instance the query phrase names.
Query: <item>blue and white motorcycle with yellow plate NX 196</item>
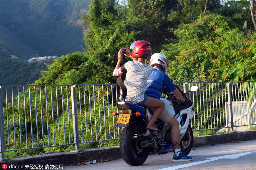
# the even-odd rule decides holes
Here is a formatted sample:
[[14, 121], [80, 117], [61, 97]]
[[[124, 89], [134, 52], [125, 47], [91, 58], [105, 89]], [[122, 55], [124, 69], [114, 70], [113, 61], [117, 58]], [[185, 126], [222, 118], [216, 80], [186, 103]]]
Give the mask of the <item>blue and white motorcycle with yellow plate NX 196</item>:
[[[164, 90], [166, 97], [160, 100], [164, 101], [165, 107], [170, 114], [179, 122], [180, 146], [181, 151], [188, 155], [193, 144], [193, 131], [189, 124], [193, 118], [192, 101], [186, 96], [189, 92], [197, 91], [197, 86], [192, 86], [188, 92], [183, 93], [177, 85], [176, 88], [181, 92], [183, 97], [188, 101], [185, 106], [171, 92]], [[118, 113], [114, 112], [113, 116], [118, 116], [117, 127], [122, 129], [120, 139], [120, 152], [123, 160], [132, 166], [143, 164], [150, 152], [155, 154], [166, 154], [174, 151], [174, 145], [171, 139], [170, 126], [158, 119], [155, 127], [159, 131], [150, 132], [146, 126], [152, 117], [150, 109], [132, 102], [120, 101], [117, 103]]]

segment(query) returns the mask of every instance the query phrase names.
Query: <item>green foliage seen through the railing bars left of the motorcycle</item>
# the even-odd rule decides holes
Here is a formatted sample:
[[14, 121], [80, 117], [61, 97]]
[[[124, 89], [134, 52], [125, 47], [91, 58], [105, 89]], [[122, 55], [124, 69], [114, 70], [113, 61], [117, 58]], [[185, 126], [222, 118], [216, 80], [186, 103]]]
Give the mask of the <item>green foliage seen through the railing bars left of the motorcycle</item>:
[[[102, 92], [102, 88], [103, 86], [77, 86], [77, 93], [81, 90], [82, 95], [80, 97], [80, 94], [77, 94], [77, 100], [87, 104], [91, 102], [90, 105], [78, 106], [80, 142], [89, 141], [89, 143], [80, 144], [80, 149], [118, 145], [118, 140], [111, 141], [113, 135], [119, 134], [118, 128], [114, 127], [114, 121], [116, 122], [117, 118], [112, 116], [112, 110], [116, 111], [117, 108], [108, 103], [108, 98], [115, 93], [115, 88], [109, 88], [108, 93], [107, 89], [104, 89], [105, 93], [95, 96], [94, 92], [98, 90]], [[74, 143], [70, 86], [30, 86], [26, 89], [23, 90], [21, 87], [18, 94], [17, 90], [14, 90], [15, 105], [4, 101], [6, 150]], [[99, 103], [93, 103], [95, 97]], [[116, 103], [116, 99], [113, 103]], [[106, 141], [90, 142], [97, 140]], [[5, 158], [17, 158], [44, 152], [69, 152], [73, 149], [75, 149], [74, 145], [64, 145], [20, 150], [6, 152]]]

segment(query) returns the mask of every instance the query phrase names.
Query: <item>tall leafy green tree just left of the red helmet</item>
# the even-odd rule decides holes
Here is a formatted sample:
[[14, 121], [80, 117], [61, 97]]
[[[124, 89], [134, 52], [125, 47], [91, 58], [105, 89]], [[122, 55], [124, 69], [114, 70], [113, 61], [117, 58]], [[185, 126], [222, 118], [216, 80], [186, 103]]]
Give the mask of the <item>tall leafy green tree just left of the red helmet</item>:
[[[115, 1], [95, 0], [90, 3], [88, 15], [82, 18], [88, 27], [84, 29], [88, 62], [81, 65], [83, 74], [90, 72], [86, 83], [116, 82], [112, 76], [120, 48], [129, 48], [134, 41], [127, 31], [124, 13], [115, 8]], [[119, 7], [119, 5], [118, 5]], [[124, 62], [127, 59], [124, 59]], [[84, 79], [85, 79], [84, 78]]]

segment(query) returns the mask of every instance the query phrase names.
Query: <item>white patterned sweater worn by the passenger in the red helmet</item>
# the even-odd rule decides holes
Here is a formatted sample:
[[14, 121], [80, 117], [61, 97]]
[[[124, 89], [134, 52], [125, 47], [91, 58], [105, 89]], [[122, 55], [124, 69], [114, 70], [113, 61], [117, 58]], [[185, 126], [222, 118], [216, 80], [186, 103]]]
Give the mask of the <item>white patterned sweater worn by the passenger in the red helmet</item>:
[[[146, 82], [153, 71], [153, 67], [142, 64], [139, 61], [128, 61], [124, 67], [127, 70], [124, 82], [127, 88], [125, 101], [133, 100], [137, 103], [143, 101]], [[113, 71], [113, 75], [115, 76], [119, 76], [121, 73], [121, 67]]]

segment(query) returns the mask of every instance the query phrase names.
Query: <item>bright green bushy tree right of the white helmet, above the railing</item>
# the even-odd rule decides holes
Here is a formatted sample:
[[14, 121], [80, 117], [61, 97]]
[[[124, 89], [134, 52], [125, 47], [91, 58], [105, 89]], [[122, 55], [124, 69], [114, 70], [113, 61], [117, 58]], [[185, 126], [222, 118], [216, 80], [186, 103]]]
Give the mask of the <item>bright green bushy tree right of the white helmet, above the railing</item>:
[[167, 74], [175, 82], [256, 80], [255, 35], [232, 29], [228, 18], [208, 14], [174, 31], [176, 44], [164, 45]]

